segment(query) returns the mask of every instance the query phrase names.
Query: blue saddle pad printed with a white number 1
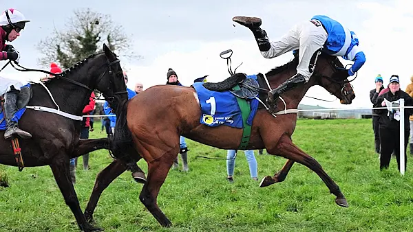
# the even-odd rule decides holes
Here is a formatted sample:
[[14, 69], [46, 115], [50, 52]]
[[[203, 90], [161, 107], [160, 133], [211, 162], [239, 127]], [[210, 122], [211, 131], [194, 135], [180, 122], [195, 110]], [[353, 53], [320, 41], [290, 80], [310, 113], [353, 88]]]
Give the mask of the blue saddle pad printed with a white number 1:
[[[200, 100], [200, 124], [211, 127], [225, 125], [243, 128], [242, 113], [235, 95], [229, 91], [210, 91], [205, 89], [202, 84], [202, 82], [192, 84]], [[254, 99], [247, 102], [251, 106], [251, 114], [248, 117], [247, 123], [251, 125], [255, 113], [257, 113], [258, 101]]]

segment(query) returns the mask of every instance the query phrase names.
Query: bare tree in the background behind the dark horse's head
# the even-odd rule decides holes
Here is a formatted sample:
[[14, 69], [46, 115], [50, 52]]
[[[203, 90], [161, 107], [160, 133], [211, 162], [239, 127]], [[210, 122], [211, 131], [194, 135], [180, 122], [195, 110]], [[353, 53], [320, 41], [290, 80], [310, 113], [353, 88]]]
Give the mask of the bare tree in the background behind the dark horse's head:
[[131, 42], [121, 25], [116, 25], [109, 14], [87, 9], [74, 10], [74, 16], [65, 24], [65, 30], [54, 30], [51, 36], [37, 46], [44, 56], [39, 65], [48, 67], [58, 62], [67, 68], [83, 58], [101, 51], [103, 43], [118, 56], [140, 58], [131, 49]]

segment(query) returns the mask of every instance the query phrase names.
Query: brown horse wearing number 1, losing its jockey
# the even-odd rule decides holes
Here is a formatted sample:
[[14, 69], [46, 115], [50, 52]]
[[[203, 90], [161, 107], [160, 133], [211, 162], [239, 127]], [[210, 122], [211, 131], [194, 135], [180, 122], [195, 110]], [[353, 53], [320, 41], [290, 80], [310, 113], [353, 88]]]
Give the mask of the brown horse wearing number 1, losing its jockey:
[[[296, 73], [297, 63], [295, 58], [286, 65], [266, 73], [271, 88], [293, 76]], [[323, 86], [338, 97], [342, 104], [351, 104], [355, 97], [354, 91], [343, 73], [343, 65], [337, 57], [320, 56], [315, 73], [309, 82], [282, 95], [286, 108], [297, 109], [305, 93], [314, 85]], [[278, 106], [279, 111], [284, 109], [284, 104], [279, 102]], [[180, 150], [178, 143], [180, 135], [216, 148], [237, 149], [240, 146], [242, 129], [200, 124], [200, 102], [197, 93], [191, 87], [153, 86], [140, 93], [138, 97], [129, 100], [125, 108], [127, 111], [124, 110], [118, 117], [115, 135], [118, 133], [118, 139], [123, 139], [123, 145], [127, 144], [125, 141], [133, 139], [133, 143], [129, 143], [129, 146], [122, 146], [123, 156], [134, 156], [133, 159], [138, 161], [140, 159], [138, 154], [140, 154], [147, 161], [147, 183], [143, 186], [139, 198], [162, 226], [169, 227], [171, 222], [162, 213], [156, 200], [160, 187]], [[259, 109], [253, 120], [251, 139], [246, 149], [266, 148], [270, 154], [306, 165], [317, 173], [330, 192], [335, 194], [337, 205], [348, 207], [339, 186], [324, 172], [321, 165], [291, 141], [296, 121], [296, 113], [273, 117], [265, 109]], [[127, 126], [123, 126], [126, 123]], [[88, 220], [92, 220], [98, 198], [105, 187], [127, 170], [125, 162], [121, 161], [123, 157], [118, 158], [96, 178], [94, 191], [85, 211]], [[261, 187], [276, 182], [277, 176], [267, 176], [263, 179]]]

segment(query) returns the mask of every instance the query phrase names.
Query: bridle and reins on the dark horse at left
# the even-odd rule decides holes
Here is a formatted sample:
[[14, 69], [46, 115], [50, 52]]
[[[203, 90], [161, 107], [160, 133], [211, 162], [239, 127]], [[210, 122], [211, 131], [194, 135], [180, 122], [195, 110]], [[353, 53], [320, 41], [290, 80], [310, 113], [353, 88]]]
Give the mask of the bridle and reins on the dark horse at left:
[[[87, 60], [87, 59], [83, 60], [83, 62], [85, 62], [86, 60]], [[112, 61], [112, 62], [109, 62], [109, 59], [107, 59], [107, 58], [106, 58], [106, 60], [107, 60], [106, 64], [103, 65], [103, 66], [106, 66], [106, 69], [105, 69], [105, 71], [104, 71], [102, 74], [100, 74], [99, 78], [96, 80], [96, 84], [98, 84], [98, 83], [102, 80], [102, 78], [103, 78], [103, 76], [105, 76], [105, 73], [106, 73], [106, 72], [108, 72], [109, 75], [113, 76], [112, 65], [116, 65], [116, 64], [118, 64], [118, 62], [120, 62], [119, 59], [116, 59], [116, 60], [114, 60], [114, 61]], [[10, 63], [10, 64], [12, 65], [12, 67], [13, 67], [14, 69], [16, 69], [17, 71], [38, 71], [38, 72], [41, 72], [41, 73], [46, 73], [46, 74], [49, 74], [50, 76], [54, 76], [54, 77], [57, 78], [57, 79], [65, 80], [65, 81], [67, 81], [67, 82], [71, 82], [72, 84], [76, 84], [77, 86], [81, 86], [81, 87], [83, 87], [83, 88], [85, 88], [85, 89], [87, 89], [87, 90], [89, 90], [89, 91], [93, 91], [93, 89], [90, 89], [89, 86], [87, 86], [87, 85], [85, 85], [85, 84], [82, 84], [81, 82], [76, 82], [76, 80], [72, 80], [72, 79], [70, 79], [70, 78], [66, 78], [64, 72], [63, 72], [63, 73], [59, 73], [59, 74], [55, 74], [55, 73], [51, 73], [50, 71], [45, 71], [45, 70], [41, 70], [41, 69], [28, 69], [28, 68], [25, 68], [25, 67], [19, 65], [19, 64], [16, 63], [16, 62], [14, 62], [14, 63], [13, 63], [13, 62], [8, 62], [8, 63], [5, 65], [5, 67], [6, 67], [9, 63]], [[17, 67], [14, 66], [14, 65], [16, 65]], [[3, 69], [4, 69], [5, 67], [3, 67]], [[18, 68], [18, 67], [19, 67], [19, 68]], [[70, 69], [67, 70], [67, 71], [70, 71]], [[109, 88], [108, 88], [108, 89], [112, 89], [112, 85], [114, 85], [112, 79], [114, 79], [114, 78], [110, 78], [110, 79], [109, 79]], [[103, 93], [101, 93], [100, 91], [98, 91], [98, 93], [100, 93], [100, 95], [103, 95]], [[107, 98], [107, 101], [108, 101], [108, 102], [113, 102], [113, 101], [114, 101], [114, 96], [116, 96], [116, 95], [122, 95], [122, 94], [127, 94], [127, 91], [118, 91], [118, 92], [114, 92], [113, 94], [114, 94], [113, 96], [106, 96], [106, 97], [105, 97], [105, 95], [104, 95], [104, 97], [105, 97], [105, 99]], [[99, 97], [100, 97], [100, 96], [99, 96]], [[96, 97], [95, 99], [98, 99], [99, 97]]]

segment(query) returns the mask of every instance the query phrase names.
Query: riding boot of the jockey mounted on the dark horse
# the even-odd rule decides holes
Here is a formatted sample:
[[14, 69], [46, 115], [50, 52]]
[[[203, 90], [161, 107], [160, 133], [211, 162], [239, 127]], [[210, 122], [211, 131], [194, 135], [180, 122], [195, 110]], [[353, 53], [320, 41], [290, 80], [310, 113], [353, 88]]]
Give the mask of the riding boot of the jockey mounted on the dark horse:
[[17, 112], [17, 99], [19, 91], [9, 91], [4, 94], [4, 115], [6, 116], [6, 132], [4, 132], [4, 139], [11, 139], [19, 135], [22, 139], [30, 139], [32, 135], [29, 132], [21, 130], [17, 121], [13, 121], [14, 114]]

